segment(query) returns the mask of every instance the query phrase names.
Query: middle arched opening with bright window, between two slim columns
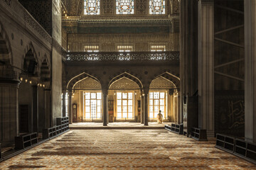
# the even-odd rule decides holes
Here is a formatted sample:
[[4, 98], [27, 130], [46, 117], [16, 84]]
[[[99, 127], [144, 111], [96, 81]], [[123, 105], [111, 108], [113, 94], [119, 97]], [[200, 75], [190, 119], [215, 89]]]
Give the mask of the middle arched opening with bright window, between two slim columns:
[[128, 77], [122, 77], [110, 84], [108, 93], [110, 123], [140, 122], [140, 91], [139, 85]]

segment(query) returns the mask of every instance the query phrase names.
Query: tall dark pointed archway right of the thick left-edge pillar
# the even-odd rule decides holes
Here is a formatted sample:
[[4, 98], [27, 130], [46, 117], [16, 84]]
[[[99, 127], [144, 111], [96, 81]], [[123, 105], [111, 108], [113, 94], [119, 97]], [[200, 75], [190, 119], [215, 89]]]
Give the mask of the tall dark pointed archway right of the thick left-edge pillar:
[[[19, 132], [38, 132], [38, 60], [32, 43], [24, 55], [18, 89]], [[41, 86], [41, 88], [43, 88]]]

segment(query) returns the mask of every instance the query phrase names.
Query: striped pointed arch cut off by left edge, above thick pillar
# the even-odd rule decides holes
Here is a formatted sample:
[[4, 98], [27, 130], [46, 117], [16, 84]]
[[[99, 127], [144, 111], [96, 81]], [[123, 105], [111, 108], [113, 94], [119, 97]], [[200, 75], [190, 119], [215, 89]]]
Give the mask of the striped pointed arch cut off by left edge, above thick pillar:
[[11, 43], [3, 25], [0, 22], [0, 60], [2, 64], [13, 64]]

